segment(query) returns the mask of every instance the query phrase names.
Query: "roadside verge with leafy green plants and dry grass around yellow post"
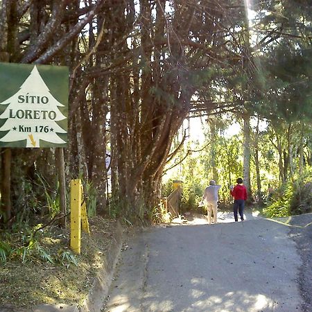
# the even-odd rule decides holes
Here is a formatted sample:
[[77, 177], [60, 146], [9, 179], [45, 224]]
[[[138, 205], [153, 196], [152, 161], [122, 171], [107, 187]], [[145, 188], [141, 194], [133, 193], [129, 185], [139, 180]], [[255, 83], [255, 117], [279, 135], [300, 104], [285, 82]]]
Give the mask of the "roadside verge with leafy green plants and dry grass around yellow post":
[[101, 216], [89, 219], [91, 235], [82, 233], [80, 255], [69, 250], [68, 227], [40, 227], [0, 231], [0, 310], [10, 305], [31, 311], [42, 303], [83, 304], [116, 244], [116, 220]]

